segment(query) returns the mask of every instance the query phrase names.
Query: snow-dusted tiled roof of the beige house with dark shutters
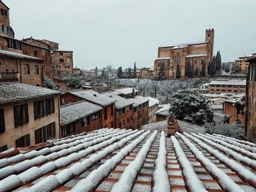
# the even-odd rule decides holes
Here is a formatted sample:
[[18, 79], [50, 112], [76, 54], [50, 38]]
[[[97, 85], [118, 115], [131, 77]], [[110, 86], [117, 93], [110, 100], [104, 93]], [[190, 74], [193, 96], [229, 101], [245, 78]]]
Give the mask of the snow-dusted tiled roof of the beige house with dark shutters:
[[27, 85], [20, 82], [0, 83], [0, 105], [12, 104], [31, 99], [54, 96], [60, 94], [48, 88], [40, 88], [34, 85]]

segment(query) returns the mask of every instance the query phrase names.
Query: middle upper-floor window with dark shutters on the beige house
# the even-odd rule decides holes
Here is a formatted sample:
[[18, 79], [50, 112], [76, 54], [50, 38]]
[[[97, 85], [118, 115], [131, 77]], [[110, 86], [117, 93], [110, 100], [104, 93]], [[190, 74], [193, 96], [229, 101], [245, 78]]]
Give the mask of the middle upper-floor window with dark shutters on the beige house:
[[15, 128], [23, 123], [29, 123], [29, 107], [28, 104], [15, 105], [14, 110], [14, 119], [15, 119]]

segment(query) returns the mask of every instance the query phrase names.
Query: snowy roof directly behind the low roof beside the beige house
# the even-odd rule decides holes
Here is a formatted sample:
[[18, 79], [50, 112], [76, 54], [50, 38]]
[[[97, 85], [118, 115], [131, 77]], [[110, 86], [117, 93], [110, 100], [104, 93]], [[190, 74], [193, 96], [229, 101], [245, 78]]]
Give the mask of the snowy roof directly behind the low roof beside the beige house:
[[104, 96], [102, 94], [97, 93], [96, 91], [70, 91], [70, 94], [74, 96], [78, 96], [81, 99], [85, 99], [86, 101], [91, 101], [94, 104], [99, 104], [102, 107], [107, 107], [110, 104], [114, 104], [116, 99], [112, 99], [109, 96]]

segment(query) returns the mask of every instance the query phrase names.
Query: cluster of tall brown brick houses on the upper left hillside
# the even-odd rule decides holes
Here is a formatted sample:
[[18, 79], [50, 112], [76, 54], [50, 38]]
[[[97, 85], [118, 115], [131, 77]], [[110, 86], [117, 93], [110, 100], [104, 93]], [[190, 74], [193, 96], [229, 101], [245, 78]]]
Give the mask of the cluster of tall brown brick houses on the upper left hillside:
[[42, 86], [43, 75], [61, 77], [72, 73], [73, 52], [59, 49], [47, 39], [15, 39], [10, 8], [0, 1], [0, 82], [10, 80]]

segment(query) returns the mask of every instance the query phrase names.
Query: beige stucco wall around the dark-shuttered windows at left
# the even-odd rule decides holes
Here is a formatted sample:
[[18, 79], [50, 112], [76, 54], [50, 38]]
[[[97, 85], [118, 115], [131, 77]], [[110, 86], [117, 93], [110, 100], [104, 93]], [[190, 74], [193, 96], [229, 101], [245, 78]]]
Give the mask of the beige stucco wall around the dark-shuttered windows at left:
[[34, 120], [34, 101], [29, 101], [29, 123], [24, 123], [23, 125], [18, 126], [18, 128], [15, 128], [14, 124], [14, 105], [1, 107], [4, 108], [5, 131], [3, 134], [0, 134], [0, 146], [7, 145], [8, 149], [10, 147], [15, 147], [15, 140], [26, 134], [30, 134], [30, 144], [35, 145], [34, 131], [37, 130], [37, 128], [47, 126], [54, 121], [56, 122], [56, 137], [59, 138], [59, 96], [54, 98], [54, 104], [54, 113]]

